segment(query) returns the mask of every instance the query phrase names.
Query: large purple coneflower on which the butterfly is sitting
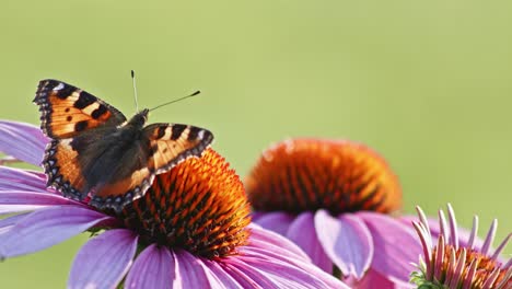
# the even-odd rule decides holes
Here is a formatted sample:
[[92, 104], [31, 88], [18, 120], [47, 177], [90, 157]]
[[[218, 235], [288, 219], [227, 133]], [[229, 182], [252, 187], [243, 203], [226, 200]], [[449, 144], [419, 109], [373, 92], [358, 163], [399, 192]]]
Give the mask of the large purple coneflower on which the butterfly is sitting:
[[[38, 165], [47, 139], [0, 122], [0, 151]], [[116, 215], [46, 188], [42, 173], [0, 166], [0, 256], [47, 248], [94, 232], [78, 253], [69, 288], [347, 288], [293, 243], [248, 224], [238, 176], [205, 151], [155, 177]], [[26, 212], [28, 211], [28, 212]]]

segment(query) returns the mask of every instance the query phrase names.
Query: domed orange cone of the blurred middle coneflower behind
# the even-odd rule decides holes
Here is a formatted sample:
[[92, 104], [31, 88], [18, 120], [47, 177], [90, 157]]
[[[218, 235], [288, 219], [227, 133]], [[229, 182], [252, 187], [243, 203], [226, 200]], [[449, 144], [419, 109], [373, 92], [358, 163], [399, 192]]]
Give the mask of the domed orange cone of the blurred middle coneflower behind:
[[394, 212], [402, 189], [386, 162], [350, 141], [294, 139], [264, 152], [245, 181], [255, 210], [298, 213], [327, 209], [333, 215]]

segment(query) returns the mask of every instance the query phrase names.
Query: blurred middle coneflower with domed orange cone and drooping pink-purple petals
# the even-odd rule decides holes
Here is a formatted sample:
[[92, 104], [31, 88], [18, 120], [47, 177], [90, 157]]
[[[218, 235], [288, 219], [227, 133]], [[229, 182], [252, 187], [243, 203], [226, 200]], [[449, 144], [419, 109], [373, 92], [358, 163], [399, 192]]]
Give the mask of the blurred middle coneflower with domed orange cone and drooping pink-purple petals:
[[245, 181], [253, 221], [302, 247], [358, 288], [408, 286], [421, 252], [412, 228], [387, 213], [402, 190], [386, 162], [351, 141], [292, 139], [266, 150]]

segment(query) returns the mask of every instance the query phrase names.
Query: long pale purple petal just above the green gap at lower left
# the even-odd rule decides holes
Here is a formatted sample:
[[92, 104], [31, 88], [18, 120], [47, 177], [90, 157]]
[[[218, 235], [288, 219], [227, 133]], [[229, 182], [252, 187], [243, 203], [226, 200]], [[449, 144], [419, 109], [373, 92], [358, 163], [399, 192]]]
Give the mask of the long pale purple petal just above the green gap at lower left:
[[13, 257], [47, 248], [109, 218], [71, 205], [34, 211], [0, 235], [0, 256]]

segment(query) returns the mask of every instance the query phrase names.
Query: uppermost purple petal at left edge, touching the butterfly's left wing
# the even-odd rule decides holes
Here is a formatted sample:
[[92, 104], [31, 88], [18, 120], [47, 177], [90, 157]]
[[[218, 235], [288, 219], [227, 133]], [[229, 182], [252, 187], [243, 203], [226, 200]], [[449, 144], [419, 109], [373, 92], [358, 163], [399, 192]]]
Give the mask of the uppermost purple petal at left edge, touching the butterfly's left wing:
[[5, 154], [39, 165], [47, 142], [40, 129], [33, 125], [0, 120], [0, 151]]

